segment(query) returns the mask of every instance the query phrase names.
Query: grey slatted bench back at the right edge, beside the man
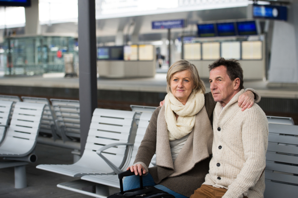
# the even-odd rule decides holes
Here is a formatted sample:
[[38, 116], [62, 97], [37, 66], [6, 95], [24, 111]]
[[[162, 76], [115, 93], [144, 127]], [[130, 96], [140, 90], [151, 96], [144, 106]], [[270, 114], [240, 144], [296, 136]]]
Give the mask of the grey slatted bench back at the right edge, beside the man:
[[269, 124], [265, 198], [298, 197], [298, 126]]

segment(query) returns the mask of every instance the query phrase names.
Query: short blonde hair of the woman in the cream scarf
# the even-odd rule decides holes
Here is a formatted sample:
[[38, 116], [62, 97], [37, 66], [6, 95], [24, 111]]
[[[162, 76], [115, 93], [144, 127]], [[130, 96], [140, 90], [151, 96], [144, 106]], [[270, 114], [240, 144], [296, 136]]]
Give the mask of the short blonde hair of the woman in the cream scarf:
[[206, 88], [204, 82], [201, 80], [199, 76], [199, 71], [196, 66], [191, 64], [189, 61], [186, 60], [180, 60], [173, 63], [173, 65], [170, 66], [167, 74], [166, 74], [166, 92], [171, 92], [171, 78], [174, 73], [184, 70], [189, 70], [191, 73], [191, 78], [195, 85], [195, 90], [199, 91], [202, 90], [202, 93], [205, 94]]

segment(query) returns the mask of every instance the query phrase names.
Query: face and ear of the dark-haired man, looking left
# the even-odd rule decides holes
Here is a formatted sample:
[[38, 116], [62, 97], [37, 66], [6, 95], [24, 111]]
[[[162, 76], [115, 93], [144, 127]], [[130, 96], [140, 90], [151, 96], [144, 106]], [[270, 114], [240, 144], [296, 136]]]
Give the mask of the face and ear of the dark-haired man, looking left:
[[223, 106], [239, 91], [236, 91], [239, 87], [239, 78], [232, 81], [226, 73], [225, 66], [212, 69], [209, 82], [214, 101], [220, 102]]

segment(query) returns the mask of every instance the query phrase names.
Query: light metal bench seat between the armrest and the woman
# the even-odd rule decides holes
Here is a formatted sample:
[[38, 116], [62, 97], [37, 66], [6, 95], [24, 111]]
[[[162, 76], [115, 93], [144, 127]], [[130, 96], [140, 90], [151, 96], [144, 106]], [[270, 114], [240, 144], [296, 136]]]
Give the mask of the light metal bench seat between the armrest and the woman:
[[[139, 146], [141, 144], [141, 141], [144, 138], [145, 132], [149, 125], [151, 116], [152, 116], [152, 113], [142, 113], [140, 117], [139, 127], [137, 130], [137, 135], [136, 135], [132, 155], [127, 159], [123, 168], [118, 172], [126, 171], [127, 167], [133, 165]], [[96, 186], [95, 193], [82, 190], [83, 188], [90, 187], [90, 186]], [[57, 187], [66, 189], [69, 191], [74, 191], [76, 193], [92, 196], [92, 197], [105, 198], [109, 196], [109, 190], [111, 191], [111, 189], [113, 190], [114, 188], [118, 190], [120, 188], [120, 185], [119, 185], [118, 175], [85, 175], [81, 177], [81, 180], [64, 182], [64, 183], [58, 184]]]

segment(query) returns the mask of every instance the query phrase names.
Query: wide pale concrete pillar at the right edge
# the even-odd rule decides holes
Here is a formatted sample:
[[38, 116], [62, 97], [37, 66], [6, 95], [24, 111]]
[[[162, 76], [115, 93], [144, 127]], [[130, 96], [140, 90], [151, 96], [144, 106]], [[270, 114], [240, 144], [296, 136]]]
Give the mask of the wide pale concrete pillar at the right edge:
[[274, 21], [269, 81], [298, 83], [298, 3], [288, 9], [288, 21]]

